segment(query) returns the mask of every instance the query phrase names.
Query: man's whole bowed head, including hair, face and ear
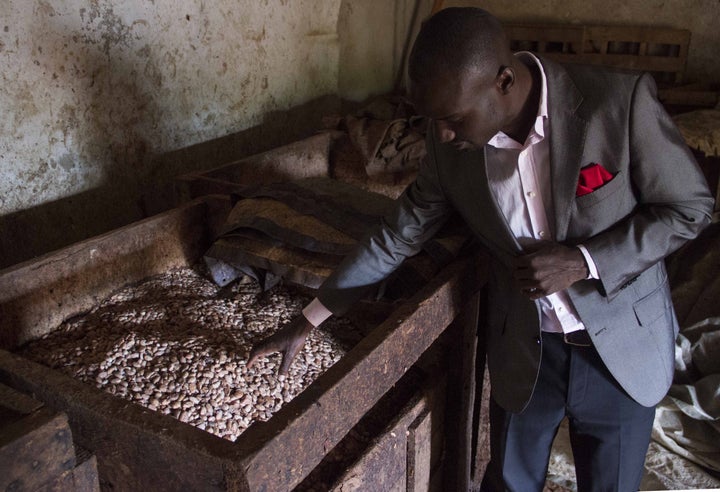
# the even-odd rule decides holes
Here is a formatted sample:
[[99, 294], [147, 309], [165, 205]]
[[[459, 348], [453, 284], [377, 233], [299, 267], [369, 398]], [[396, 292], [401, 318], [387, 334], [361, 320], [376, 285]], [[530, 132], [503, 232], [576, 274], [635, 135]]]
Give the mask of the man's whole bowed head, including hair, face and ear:
[[437, 137], [480, 148], [515, 124], [527, 98], [502, 27], [477, 8], [448, 8], [420, 29], [408, 65], [410, 99]]

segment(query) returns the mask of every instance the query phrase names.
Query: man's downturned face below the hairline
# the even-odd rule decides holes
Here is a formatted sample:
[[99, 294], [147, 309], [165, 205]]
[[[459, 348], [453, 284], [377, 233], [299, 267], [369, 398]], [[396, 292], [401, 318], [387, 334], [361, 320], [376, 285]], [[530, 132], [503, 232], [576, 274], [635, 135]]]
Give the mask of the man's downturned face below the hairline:
[[481, 149], [506, 120], [505, 101], [492, 76], [439, 74], [411, 81], [410, 99], [419, 114], [432, 119], [437, 139], [458, 150]]

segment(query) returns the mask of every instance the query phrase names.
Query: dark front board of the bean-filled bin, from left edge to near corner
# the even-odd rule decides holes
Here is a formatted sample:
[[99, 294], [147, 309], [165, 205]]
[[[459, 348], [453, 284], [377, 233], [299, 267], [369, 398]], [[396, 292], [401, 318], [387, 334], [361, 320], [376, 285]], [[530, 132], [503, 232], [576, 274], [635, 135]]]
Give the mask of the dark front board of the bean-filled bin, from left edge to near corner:
[[0, 381], [68, 415], [75, 441], [97, 456], [105, 489], [242, 490], [230, 441], [4, 350]]

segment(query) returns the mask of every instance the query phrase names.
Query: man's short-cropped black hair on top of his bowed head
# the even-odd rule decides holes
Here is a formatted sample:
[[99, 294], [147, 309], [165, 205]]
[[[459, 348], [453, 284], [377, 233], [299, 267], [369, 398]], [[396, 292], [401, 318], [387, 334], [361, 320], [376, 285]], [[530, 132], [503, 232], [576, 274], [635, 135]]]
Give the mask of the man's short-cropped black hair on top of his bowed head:
[[489, 12], [473, 7], [446, 8], [420, 28], [408, 62], [414, 82], [445, 73], [488, 69], [507, 65], [510, 47], [500, 22]]

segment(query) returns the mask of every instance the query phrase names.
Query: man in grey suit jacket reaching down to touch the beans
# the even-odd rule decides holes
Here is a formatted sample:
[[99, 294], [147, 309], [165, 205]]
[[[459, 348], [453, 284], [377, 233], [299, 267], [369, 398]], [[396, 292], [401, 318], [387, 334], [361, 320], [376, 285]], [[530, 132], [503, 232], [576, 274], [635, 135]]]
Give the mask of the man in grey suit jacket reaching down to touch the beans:
[[483, 488], [542, 490], [567, 417], [578, 488], [637, 490], [678, 330], [663, 259], [709, 223], [713, 204], [652, 79], [514, 55], [498, 21], [473, 8], [430, 18], [408, 71], [433, 123], [416, 181], [249, 363], [280, 351], [286, 371], [313, 325], [455, 210], [493, 258]]

